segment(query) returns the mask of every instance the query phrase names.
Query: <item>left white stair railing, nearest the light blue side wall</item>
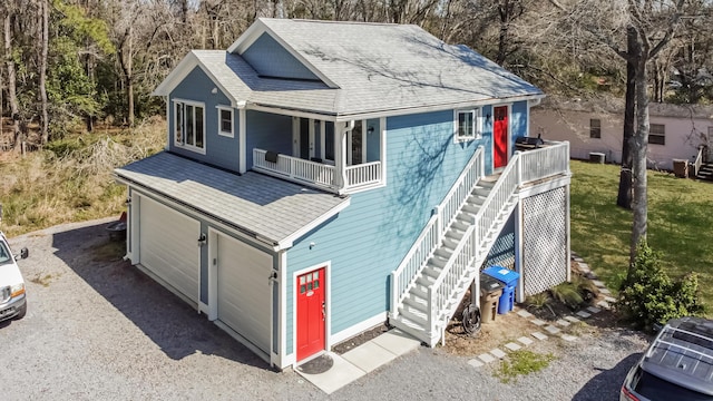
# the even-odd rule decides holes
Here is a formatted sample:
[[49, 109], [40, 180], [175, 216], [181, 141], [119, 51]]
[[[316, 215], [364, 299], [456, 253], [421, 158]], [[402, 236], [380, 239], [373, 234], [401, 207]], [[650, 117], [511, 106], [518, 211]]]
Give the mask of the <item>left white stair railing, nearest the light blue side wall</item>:
[[[406, 254], [397, 270], [391, 272], [392, 317], [398, 316], [398, 305], [403, 301], [407, 290], [418, 278], [419, 273], [423, 270], [428, 260], [433, 256], [433, 252], [436, 252], [441, 243], [443, 234], [452, 224], [456, 215], [460, 212], [460, 208], [468, 199], [468, 196], [470, 196], [475, 185], [485, 174], [485, 159], [482, 154], [484, 147], [478, 146], [478, 149], [470, 157], [468, 164], [466, 164], [466, 168], [460, 173], [449, 192], [443, 197], [443, 200], [433, 208], [433, 215], [429, 218], [423, 231], [417, 237], [416, 242]], [[466, 182], [468, 184], [468, 188], [463, 186], [463, 183]], [[457, 208], [453, 208], [455, 202], [458, 203]], [[445, 216], [446, 214], [449, 215]], [[452, 216], [450, 214], [452, 214]], [[448, 218], [447, 224], [443, 223], [446, 218]], [[406, 277], [408, 277], [408, 280], [404, 280]]]

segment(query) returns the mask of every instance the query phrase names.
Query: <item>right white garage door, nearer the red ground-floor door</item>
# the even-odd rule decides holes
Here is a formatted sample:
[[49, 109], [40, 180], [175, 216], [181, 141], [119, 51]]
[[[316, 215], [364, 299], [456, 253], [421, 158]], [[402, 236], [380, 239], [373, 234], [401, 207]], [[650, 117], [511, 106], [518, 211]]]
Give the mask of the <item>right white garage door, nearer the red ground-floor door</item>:
[[272, 257], [226, 235], [217, 238], [218, 320], [268, 353]]

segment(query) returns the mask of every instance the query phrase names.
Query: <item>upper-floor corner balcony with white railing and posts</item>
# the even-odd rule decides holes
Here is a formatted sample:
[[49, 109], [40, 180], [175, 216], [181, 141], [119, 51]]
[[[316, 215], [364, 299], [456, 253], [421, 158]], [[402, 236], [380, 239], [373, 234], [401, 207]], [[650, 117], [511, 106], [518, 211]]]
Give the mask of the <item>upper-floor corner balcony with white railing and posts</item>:
[[[329, 121], [293, 117], [291, 148], [263, 144], [248, 149], [252, 169], [336, 194], [383, 186], [384, 126], [383, 118]], [[285, 141], [275, 141], [280, 143]]]

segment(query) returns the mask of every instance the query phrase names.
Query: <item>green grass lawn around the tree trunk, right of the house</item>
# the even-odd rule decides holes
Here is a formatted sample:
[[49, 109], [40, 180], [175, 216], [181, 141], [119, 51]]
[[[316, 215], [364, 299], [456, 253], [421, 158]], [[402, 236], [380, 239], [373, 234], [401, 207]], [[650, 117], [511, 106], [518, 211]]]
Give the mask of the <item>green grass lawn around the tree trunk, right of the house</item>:
[[[619, 166], [573, 160], [572, 250], [617, 290], [628, 264], [632, 212], [616, 206]], [[713, 184], [648, 172], [648, 245], [671, 277], [699, 273], [713, 310]]]

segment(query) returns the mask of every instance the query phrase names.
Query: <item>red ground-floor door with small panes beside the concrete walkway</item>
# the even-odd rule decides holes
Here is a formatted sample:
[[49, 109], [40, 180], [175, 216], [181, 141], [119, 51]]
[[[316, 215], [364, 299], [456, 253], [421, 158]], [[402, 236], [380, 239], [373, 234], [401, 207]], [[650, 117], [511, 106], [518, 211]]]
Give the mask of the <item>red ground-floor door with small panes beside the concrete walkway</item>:
[[297, 276], [297, 361], [324, 350], [324, 267]]

